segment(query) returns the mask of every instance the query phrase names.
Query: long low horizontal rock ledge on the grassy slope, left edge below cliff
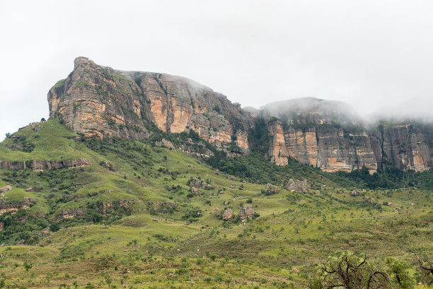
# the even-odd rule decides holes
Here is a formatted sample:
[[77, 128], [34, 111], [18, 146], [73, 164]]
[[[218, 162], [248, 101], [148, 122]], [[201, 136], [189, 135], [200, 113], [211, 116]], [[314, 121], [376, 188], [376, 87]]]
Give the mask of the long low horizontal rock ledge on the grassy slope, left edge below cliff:
[[0, 169], [5, 170], [26, 170], [30, 169], [34, 172], [42, 172], [43, 170], [59, 170], [62, 168], [89, 167], [91, 161], [86, 158], [76, 158], [72, 160], [57, 161], [42, 161], [31, 160], [27, 162], [6, 162], [0, 160]]

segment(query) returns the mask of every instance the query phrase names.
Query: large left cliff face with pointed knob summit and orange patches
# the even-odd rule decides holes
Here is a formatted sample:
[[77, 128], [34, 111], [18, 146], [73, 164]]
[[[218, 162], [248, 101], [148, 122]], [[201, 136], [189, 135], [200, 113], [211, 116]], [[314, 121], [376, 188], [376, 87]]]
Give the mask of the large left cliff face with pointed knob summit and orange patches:
[[232, 140], [248, 152], [252, 119], [238, 104], [187, 78], [163, 73], [116, 71], [86, 57], [48, 93], [50, 116], [86, 136], [146, 138], [149, 122], [180, 133], [192, 129], [223, 146]]

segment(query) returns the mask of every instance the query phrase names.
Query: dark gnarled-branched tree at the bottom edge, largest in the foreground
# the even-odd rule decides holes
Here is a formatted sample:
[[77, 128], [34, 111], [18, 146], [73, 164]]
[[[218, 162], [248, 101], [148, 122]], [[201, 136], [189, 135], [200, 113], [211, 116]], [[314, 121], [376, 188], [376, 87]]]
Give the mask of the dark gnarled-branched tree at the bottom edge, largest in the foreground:
[[350, 251], [339, 251], [319, 265], [318, 276], [311, 281], [311, 289], [376, 289], [391, 288], [388, 275], [378, 271], [367, 261], [367, 256], [357, 256]]

